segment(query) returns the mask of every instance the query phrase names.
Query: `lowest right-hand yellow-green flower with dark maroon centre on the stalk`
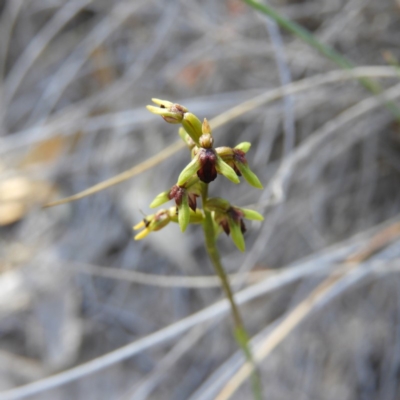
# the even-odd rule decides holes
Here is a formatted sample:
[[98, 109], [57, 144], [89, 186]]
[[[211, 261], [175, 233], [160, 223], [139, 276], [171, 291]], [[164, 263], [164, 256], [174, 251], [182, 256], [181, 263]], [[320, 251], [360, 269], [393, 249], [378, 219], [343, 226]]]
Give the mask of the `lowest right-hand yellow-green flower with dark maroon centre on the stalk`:
[[244, 251], [246, 247], [243, 237], [246, 232], [246, 226], [243, 218], [258, 221], [264, 220], [264, 217], [257, 211], [232, 206], [227, 200], [219, 197], [208, 199], [206, 207], [214, 212], [215, 222], [227, 235], [230, 234], [240, 251]]

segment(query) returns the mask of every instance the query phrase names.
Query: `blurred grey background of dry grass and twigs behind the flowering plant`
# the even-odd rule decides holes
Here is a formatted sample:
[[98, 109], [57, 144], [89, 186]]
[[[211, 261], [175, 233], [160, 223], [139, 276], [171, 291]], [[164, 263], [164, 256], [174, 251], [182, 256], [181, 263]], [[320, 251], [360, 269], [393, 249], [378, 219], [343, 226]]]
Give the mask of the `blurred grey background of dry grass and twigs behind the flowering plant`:
[[[398, 0], [269, 4], [400, 106]], [[265, 398], [399, 399], [400, 125], [338, 69], [240, 0], [1, 1], [0, 399], [252, 398], [247, 381], [226, 394], [243, 359], [201, 229], [132, 239], [187, 152], [42, 208], [179, 139], [152, 97], [211, 119], [217, 146], [252, 143], [265, 189], [220, 177], [210, 190], [265, 217], [244, 254], [219, 239], [251, 336], [278, 337], [254, 350]], [[93, 373], [43, 380], [96, 358]]]

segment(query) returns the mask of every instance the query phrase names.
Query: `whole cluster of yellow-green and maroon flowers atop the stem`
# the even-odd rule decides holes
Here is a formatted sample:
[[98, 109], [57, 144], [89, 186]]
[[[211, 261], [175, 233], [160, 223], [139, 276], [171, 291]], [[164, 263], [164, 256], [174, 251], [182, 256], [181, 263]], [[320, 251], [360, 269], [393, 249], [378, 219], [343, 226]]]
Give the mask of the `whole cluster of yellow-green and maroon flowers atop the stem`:
[[202, 198], [204, 210], [211, 213], [217, 232], [230, 235], [235, 245], [244, 251], [243, 233], [246, 231], [243, 219], [262, 221], [261, 214], [253, 210], [232, 206], [222, 198], [208, 198], [207, 185], [223, 175], [233, 183], [239, 183], [243, 177], [251, 186], [261, 189], [262, 184], [251, 171], [246, 160], [246, 153], [251, 144], [243, 142], [234, 148], [216, 147], [211, 134], [210, 124], [206, 119], [201, 122], [194, 114], [180, 104], [153, 99], [158, 105], [147, 106], [154, 114], [160, 115], [166, 122], [181, 124], [179, 135], [191, 150], [192, 160], [182, 170], [178, 181], [169, 190], [160, 193], [150, 204], [158, 207], [170, 200], [175, 207], [160, 210], [146, 217], [134, 229], [142, 229], [135, 239], [143, 239], [152, 231], [158, 231], [169, 222], [177, 222], [184, 232], [190, 223], [204, 221], [204, 211], [197, 207], [197, 198]]

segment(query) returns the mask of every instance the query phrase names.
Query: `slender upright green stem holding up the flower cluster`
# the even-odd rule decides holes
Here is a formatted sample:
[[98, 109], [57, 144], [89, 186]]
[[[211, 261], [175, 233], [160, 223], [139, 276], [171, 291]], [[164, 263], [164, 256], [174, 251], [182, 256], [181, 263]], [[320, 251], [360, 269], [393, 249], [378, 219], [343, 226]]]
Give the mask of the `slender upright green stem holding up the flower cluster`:
[[233, 318], [233, 323], [235, 326], [234, 336], [237, 344], [242, 349], [246, 360], [252, 364], [253, 366], [253, 373], [252, 373], [252, 387], [253, 387], [253, 394], [256, 400], [262, 400], [262, 388], [261, 388], [261, 380], [258, 375], [256, 364], [254, 362], [251, 349], [249, 346], [249, 335], [247, 334], [246, 328], [244, 327], [242, 317], [240, 315], [239, 308], [235, 302], [235, 298], [233, 296], [233, 292], [224, 270], [224, 267], [221, 264], [221, 259], [219, 256], [219, 252], [216, 246], [216, 235], [214, 230], [214, 222], [211, 216], [211, 212], [208, 211], [205, 207], [206, 199], [207, 199], [207, 191], [208, 185], [204, 185], [205, 189], [203, 192], [203, 206], [204, 206], [204, 221], [203, 221], [203, 230], [204, 230], [204, 237], [206, 243], [206, 249], [208, 256], [214, 266], [215, 272], [217, 273], [222, 288], [225, 292], [225, 295], [229, 301], [231, 306], [231, 313]]

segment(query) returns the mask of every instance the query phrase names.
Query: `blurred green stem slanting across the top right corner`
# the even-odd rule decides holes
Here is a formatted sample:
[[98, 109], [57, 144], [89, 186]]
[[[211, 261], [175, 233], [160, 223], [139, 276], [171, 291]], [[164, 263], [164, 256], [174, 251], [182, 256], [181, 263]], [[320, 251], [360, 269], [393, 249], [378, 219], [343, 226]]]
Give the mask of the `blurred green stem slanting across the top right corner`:
[[[287, 31], [293, 33], [303, 42], [309, 44], [314, 49], [318, 50], [321, 54], [323, 54], [326, 58], [333, 61], [337, 65], [339, 65], [343, 69], [352, 70], [356, 65], [352, 63], [347, 57], [343, 56], [335, 49], [330, 46], [327, 46], [320, 42], [311, 32], [302, 26], [296, 24], [288, 18], [285, 18], [283, 15], [279, 14], [273, 8], [268, 6], [267, 4], [260, 3], [256, 0], [243, 0], [250, 7], [254, 8], [257, 11], [267, 15], [272, 18], [278, 25]], [[382, 89], [380, 85], [368, 78], [358, 78], [360, 83], [368, 89], [371, 93], [375, 95], [379, 95], [382, 93]], [[393, 103], [392, 101], [385, 102], [386, 107], [394, 114], [397, 120], [400, 121], [400, 109], [399, 107]]]

